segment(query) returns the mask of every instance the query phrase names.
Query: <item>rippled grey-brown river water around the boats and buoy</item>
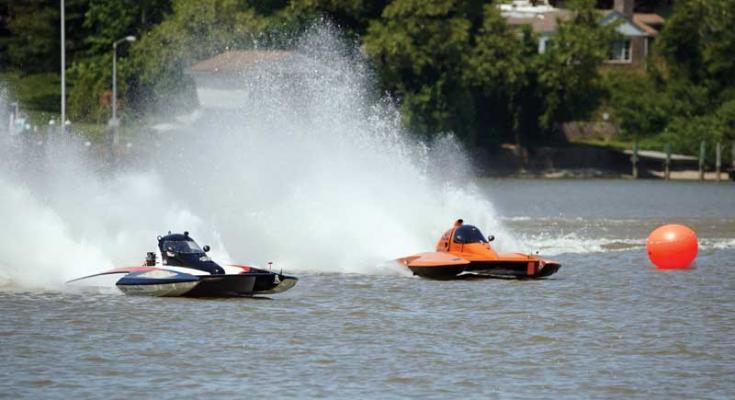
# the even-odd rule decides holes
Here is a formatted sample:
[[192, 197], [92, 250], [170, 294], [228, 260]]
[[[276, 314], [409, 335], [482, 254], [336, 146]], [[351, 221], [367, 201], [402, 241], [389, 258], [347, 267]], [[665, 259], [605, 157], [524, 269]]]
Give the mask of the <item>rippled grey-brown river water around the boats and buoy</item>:
[[[272, 299], [3, 287], [0, 397], [735, 396], [735, 185], [478, 186], [508, 232], [496, 243], [551, 255], [556, 275], [312, 272]], [[698, 232], [691, 270], [649, 264], [667, 222]]]

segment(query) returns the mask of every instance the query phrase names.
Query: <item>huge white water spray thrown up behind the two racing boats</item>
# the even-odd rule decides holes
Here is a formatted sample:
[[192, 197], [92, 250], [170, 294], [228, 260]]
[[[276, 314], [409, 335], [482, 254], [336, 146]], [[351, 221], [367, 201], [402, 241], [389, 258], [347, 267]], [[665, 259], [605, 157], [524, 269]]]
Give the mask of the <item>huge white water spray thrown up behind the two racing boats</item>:
[[432, 248], [459, 217], [503, 232], [456, 140], [404, 132], [355, 48], [328, 27], [297, 48], [235, 78], [251, 93], [236, 107], [179, 119], [134, 169], [106, 169], [74, 140], [0, 160], [2, 279], [56, 286], [137, 264], [168, 230], [218, 261], [359, 273]]

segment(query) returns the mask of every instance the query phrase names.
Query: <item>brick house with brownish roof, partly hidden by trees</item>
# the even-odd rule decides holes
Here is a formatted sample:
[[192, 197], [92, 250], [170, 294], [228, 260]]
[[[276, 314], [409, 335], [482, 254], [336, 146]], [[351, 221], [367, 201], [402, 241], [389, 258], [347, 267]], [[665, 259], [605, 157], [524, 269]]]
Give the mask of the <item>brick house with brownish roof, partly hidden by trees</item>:
[[[539, 35], [538, 51], [546, 51], [548, 41], [558, 29], [559, 21], [571, 19], [572, 11], [553, 7], [547, 0], [513, 0], [501, 4], [500, 13], [511, 26], [529, 25]], [[640, 67], [653, 40], [661, 30], [664, 19], [658, 14], [636, 13], [634, 0], [615, 0], [612, 10], [601, 10], [600, 23], [619, 23], [616, 31], [621, 39], [613, 43], [606, 64], [611, 67]]]

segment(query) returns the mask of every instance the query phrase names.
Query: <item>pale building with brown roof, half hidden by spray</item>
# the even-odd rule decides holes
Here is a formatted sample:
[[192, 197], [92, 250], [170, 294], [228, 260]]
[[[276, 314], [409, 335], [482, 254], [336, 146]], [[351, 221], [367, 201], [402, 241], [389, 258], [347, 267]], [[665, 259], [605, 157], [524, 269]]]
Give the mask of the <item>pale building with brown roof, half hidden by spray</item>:
[[194, 79], [202, 109], [235, 109], [251, 95], [244, 74], [257, 73], [258, 68], [276, 67], [292, 53], [287, 50], [227, 51], [194, 64], [187, 73]]

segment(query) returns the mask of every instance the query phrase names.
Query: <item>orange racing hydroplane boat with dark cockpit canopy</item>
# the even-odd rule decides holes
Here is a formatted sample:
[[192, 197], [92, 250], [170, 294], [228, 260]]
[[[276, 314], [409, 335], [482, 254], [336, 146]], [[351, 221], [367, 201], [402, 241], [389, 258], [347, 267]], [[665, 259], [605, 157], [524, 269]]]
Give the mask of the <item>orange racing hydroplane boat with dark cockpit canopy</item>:
[[493, 236], [459, 219], [444, 232], [436, 251], [399, 258], [414, 275], [431, 279], [545, 278], [561, 268], [556, 261], [523, 253], [498, 253], [491, 246]]

